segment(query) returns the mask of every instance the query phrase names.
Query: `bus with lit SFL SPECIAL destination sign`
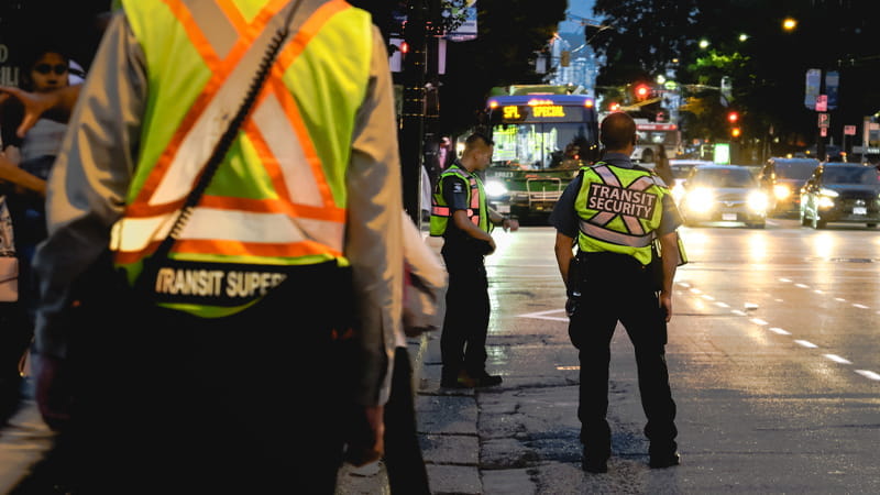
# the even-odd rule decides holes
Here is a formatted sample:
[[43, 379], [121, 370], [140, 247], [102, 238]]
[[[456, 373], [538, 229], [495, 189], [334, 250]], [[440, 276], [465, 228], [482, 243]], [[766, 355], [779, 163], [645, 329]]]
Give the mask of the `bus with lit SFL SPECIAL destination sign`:
[[501, 213], [548, 216], [579, 169], [598, 158], [598, 117], [590, 96], [494, 96], [487, 112], [495, 153], [486, 197]]

